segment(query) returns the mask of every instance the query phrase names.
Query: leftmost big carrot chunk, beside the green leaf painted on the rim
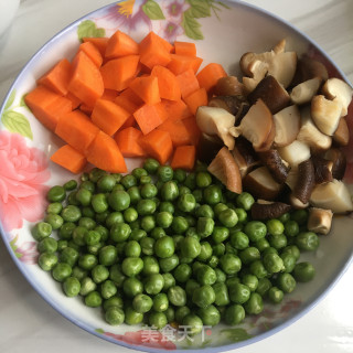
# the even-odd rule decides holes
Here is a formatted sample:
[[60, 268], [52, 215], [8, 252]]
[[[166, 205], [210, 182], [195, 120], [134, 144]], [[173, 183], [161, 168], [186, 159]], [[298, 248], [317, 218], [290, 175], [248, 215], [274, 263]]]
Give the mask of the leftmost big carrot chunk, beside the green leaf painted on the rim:
[[72, 110], [72, 101], [61, 95], [38, 86], [24, 97], [24, 101], [33, 115], [46, 128], [54, 131], [60, 117]]

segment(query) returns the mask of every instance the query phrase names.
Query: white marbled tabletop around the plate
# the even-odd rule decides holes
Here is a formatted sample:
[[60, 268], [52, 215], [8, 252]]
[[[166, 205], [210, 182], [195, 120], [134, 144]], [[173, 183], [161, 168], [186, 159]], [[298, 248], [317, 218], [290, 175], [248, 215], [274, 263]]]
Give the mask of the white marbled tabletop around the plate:
[[[7, 0], [9, 2], [13, 0]], [[21, 0], [0, 46], [0, 101], [28, 60], [72, 21], [111, 0]], [[353, 82], [353, 0], [250, 0], [311, 36]], [[329, 265], [328, 265], [329, 266]], [[239, 353], [353, 352], [353, 266], [307, 315]], [[26, 282], [0, 240], [0, 352], [131, 352], [68, 322]]]

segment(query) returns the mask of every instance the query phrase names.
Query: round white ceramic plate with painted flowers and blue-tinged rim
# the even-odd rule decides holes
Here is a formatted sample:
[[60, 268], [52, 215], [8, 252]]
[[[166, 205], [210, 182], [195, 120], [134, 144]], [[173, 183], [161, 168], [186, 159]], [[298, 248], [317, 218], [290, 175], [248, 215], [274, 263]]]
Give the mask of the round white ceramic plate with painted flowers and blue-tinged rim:
[[[150, 352], [167, 349], [220, 352], [265, 339], [310, 310], [347, 268], [353, 250], [353, 220], [350, 216], [335, 217], [331, 234], [320, 238], [320, 248], [302, 257], [317, 268], [311, 282], [298, 285], [281, 304], [266, 304], [261, 314], [248, 317], [238, 327], [220, 324], [193, 341], [176, 340], [168, 331], [151, 335], [139, 327], [110, 327], [104, 322], [100, 310], [88, 309], [79, 298], [66, 298], [50, 274], [36, 266], [36, 244], [30, 228], [43, 216], [47, 188], [62, 184], [73, 175], [50, 161], [63, 142], [33, 117], [23, 104], [23, 95], [60, 58], [73, 57], [81, 36], [109, 36], [117, 29], [137, 41], [150, 30], [171, 42], [196, 41], [203, 65], [217, 62], [234, 75], [239, 74], [238, 60], [243, 53], [268, 51], [285, 38], [288, 50], [322, 61], [330, 76], [344, 78], [334, 63], [304, 34], [242, 2], [128, 0], [94, 11], [64, 29], [32, 57], [1, 108], [0, 226], [4, 243], [24, 277], [49, 303], [84, 330], [110, 342]], [[128, 161], [129, 169], [137, 164], [137, 161]], [[345, 181], [352, 182], [350, 173]]]

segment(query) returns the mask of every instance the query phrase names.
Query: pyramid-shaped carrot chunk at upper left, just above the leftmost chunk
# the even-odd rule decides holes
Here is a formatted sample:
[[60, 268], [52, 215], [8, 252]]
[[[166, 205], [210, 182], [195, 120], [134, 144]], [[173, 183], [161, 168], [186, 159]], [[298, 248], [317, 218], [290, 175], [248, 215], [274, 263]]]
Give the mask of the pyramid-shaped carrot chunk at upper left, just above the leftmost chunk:
[[67, 58], [61, 60], [46, 74], [44, 74], [36, 83], [43, 85], [53, 92], [65, 96], [71, 77], [71, 63]]

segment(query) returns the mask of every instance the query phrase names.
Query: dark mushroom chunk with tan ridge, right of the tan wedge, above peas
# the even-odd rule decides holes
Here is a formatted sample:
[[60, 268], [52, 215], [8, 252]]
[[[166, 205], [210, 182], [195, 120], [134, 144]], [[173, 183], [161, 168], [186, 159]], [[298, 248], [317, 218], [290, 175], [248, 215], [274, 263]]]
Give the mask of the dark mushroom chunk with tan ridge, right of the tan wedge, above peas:
[[243, 179], [244, 189], [256, 199], [275, 200], [282, 190], [270, 174], [267, 167], [259, 167]]

